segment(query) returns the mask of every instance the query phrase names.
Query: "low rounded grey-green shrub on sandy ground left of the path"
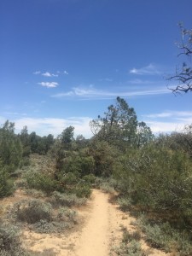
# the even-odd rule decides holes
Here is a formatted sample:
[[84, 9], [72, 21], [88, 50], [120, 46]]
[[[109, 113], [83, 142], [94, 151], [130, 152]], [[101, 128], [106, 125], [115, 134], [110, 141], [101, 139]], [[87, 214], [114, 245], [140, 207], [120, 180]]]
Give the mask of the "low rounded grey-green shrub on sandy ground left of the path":
[[38, 200], [24, 200], [15, 204], [16, 217], [21, 222], [34, 224], [44, 219], [50, 221], [51, 205]]

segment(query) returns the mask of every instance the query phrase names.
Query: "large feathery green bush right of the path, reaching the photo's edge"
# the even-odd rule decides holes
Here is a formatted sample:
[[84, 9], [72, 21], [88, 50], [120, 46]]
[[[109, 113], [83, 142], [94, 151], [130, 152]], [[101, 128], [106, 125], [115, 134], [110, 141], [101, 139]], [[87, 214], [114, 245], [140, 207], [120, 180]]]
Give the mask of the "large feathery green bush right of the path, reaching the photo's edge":
[[[116, 163], [120, 192], [131, 202], [192, 217], [192, 163], [187, 154], [155, 145], [132, 150]], [[192, 223], [191, 223], [192, 224]]]

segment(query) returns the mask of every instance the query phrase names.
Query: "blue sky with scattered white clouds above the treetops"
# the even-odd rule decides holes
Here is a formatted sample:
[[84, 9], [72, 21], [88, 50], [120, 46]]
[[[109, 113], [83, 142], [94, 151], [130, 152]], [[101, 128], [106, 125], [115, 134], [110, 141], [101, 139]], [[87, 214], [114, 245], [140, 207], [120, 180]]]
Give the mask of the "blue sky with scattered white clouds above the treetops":
[[191, 93], [175, 96], [166, 80], [191, 9], [191, 0], [1, 0], [0, 124], [41, 136], [73, 125], [90, 137], [90, 119], [117, 96], [155, 133], [191, 124]]

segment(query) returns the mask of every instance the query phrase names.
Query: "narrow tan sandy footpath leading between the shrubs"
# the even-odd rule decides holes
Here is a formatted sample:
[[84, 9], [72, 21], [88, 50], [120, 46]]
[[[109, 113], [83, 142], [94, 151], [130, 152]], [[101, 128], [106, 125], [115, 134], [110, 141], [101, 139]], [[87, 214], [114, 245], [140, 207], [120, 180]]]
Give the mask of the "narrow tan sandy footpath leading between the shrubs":
[[108, 195], [94, 190], [93, 200], [90, 201], [90, 212], [87, 223], [76, 243], [75, 255], [106, 256], [109, 244], [109, 204]]

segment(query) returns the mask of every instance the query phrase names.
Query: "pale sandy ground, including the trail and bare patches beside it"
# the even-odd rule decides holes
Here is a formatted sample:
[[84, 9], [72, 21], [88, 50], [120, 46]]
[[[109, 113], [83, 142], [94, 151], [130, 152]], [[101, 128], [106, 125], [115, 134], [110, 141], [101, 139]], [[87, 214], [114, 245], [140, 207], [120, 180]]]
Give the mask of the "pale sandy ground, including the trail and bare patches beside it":
[[[24, 247], [36, 251], [53, 249], [58, 256], [113, 256], [112, 248], [119, 246], [122, 238], [122, 226], [130, 231], [135, 218], [121, 212], [119, 207], [109, 202], [109, 195], [93, 189], [86, 207], [78, 209], [84, 224], [76, 232], [59, 235], [42, 235], [32, 230], [23, 231], [20, 237]], [[150, 249], [144, 241], [144, 250]], [[49, 255], [49, 254], [48, 254]], [[170, 255], [150, 249], [152, 256]]]

